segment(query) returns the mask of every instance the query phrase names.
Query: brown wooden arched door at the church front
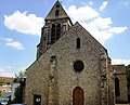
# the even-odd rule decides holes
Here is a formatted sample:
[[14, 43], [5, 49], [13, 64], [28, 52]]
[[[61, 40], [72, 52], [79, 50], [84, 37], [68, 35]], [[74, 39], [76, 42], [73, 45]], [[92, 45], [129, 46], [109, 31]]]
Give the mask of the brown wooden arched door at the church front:
[[80, 87], [76, 87], [73, 92], [73, 105], [83, 105], [83, 90]]

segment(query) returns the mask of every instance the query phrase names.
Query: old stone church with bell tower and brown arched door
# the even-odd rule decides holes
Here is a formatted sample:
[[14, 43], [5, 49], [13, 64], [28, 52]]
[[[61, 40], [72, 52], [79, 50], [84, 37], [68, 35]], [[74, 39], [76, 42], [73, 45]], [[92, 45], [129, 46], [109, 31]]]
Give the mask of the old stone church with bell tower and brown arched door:
[[37, 58], [27, 68], [27, 105], [127, 102], [125, 65], [113, 66], [107, 50], [78, 22], [72, 23], [58, 0], [44, 21]]

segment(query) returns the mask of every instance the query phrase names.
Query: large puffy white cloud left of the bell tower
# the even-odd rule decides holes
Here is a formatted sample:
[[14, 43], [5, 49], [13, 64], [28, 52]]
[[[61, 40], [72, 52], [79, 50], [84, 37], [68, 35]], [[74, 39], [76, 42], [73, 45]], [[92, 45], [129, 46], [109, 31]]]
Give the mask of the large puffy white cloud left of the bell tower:
[[12, 30], [27, 35], [40, 35], [43, 26], [43, 18], [35, 14], [15, 11], [12, 15], [4, 15], [4, 25]]

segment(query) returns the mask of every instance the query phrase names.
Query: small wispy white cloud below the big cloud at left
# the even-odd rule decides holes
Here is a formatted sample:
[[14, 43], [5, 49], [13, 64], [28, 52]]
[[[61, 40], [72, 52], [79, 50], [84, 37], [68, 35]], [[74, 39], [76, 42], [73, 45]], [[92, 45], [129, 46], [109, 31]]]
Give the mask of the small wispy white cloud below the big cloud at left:
[[15, 49], [15, 50], [24, 50], [25, 49], [21, 42], [14, 41], [11, 38], [4, 38], [3, 40], [5, 41], [5, 44], [8, 47], [11, 47], [12, 49]]

